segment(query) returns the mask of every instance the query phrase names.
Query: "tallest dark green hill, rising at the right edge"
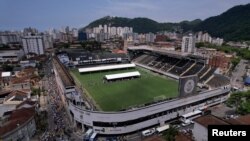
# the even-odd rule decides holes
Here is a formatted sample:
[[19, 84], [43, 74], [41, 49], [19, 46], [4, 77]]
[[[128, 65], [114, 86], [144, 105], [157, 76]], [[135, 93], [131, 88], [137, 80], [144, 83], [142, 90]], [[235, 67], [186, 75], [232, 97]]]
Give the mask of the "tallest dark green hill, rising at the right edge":
[[235, 6], [221, 15], [210, 17], [194, 28], [225, 40], [250, 40], [250, 4]]

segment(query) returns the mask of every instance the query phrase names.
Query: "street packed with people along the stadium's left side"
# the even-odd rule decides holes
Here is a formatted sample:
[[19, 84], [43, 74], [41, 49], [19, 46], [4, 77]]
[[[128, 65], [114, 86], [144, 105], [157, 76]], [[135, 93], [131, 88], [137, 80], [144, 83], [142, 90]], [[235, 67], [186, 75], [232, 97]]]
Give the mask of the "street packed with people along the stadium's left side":
[[43, 88], [46, 90], [48, 97], [48, 129], [43, 134], [42, 140], [81, 140], [81, 137], [73, 132], [73, 128], [58, 93], [54, 74], [51, 70], [52, 63], [51, 61], [48, 61], [44, 66], [45, 76], [43, 80]]

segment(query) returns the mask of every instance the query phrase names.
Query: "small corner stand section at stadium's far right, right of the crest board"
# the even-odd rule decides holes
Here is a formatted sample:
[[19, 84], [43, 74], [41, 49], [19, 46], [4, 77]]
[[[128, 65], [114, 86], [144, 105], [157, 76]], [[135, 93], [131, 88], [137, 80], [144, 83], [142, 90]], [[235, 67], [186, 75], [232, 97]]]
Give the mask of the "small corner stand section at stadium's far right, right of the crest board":
[[214, 74], [213, 78], [209, 80], [206, 84], [212, 88], [217, 88], [228, 85], [229, 83], [230, 80], [227, 77], [219, 74]]

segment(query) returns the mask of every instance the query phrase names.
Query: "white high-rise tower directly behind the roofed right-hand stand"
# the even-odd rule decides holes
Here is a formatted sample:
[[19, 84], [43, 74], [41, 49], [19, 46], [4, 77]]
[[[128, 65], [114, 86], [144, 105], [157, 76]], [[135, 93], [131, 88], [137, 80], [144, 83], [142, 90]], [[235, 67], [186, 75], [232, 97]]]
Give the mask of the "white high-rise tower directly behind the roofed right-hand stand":
[[188, 36], [183, 36], [181, 52], [195, 52], [195, 37], [192, 34], [189, 34]]

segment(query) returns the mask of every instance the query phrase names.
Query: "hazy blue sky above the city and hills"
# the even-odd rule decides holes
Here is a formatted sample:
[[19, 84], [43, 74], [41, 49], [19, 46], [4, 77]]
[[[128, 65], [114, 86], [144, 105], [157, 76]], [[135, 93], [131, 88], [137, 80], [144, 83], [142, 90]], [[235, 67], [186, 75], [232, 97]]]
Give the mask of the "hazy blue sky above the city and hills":
[[158, 22], [206, 19], [250, 0], [0, 0], [0, 30], [84, 27], [104, 16]]

